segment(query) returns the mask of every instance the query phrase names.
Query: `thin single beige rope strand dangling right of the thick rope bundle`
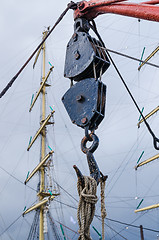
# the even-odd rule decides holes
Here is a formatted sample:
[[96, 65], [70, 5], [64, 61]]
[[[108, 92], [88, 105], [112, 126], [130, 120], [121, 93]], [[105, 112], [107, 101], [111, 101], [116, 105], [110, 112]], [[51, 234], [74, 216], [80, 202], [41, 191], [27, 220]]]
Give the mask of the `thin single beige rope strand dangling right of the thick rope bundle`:
[[101, 217], [102, 217], [102, 240], [105, 239], [105, 232], [104, 232], [104, 219], [107, 216], [106, 209], [105, 209], [105, 180], [101, 179], [100, 182], [100, 188], [101, 188]]

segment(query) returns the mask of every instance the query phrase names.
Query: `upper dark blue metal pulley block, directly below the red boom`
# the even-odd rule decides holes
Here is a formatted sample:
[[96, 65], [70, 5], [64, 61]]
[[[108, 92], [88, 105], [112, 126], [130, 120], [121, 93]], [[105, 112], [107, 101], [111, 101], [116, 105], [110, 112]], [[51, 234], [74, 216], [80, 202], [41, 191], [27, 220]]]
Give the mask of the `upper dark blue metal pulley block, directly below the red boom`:
[[76, 31], [67, 45], [65, 59], [64, 76], [74, 81], [99, 78], [110, 65], [102, 44], [88, 34], [86, 24], [83, 26], [80, 21], [76, 22]]

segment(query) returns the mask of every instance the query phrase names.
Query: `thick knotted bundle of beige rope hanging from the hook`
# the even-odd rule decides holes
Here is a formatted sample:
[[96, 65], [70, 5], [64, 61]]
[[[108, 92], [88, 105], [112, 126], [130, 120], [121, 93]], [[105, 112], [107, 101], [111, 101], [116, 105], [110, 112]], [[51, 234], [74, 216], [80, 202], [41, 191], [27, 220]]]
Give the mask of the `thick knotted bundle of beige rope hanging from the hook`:
[[79, 225], [79, 238], [78, 240], [91, 240], [90, 237], [90, 225], [95, 215], [95, 204], [98, 200], [96, 196], [97, 182], [94, 178], [84, 176], [85, 187], [82, 188], [80, 182], [77, 182], [77, 190], [80, 196], [77, 220]]

